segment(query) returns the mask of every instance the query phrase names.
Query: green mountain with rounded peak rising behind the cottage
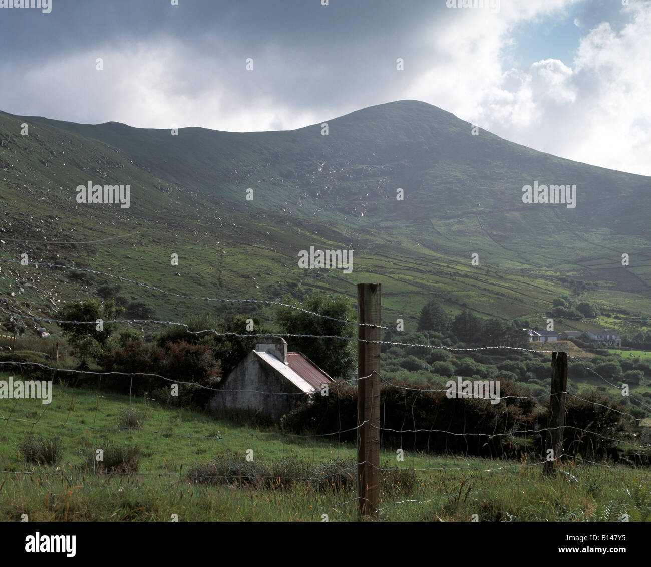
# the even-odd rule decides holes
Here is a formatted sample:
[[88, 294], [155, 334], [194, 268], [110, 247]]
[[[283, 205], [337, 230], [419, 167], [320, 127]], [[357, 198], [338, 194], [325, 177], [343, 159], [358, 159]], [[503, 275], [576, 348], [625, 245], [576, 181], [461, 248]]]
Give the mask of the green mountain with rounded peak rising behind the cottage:
[[[581, 297], [613, 317], [603, 324], [651, 312], [650, 178], [473, 131], [423, 102], [377, 105], [292, 131], [182, 128], [178, 135], [0, 113], [0, 169], [4, 258], [24, 252], [183, 296], [227, 299], [300, 297], [306, 288], [354, 296], [355, 283], [380, 282], [385, 322], [402, 317], [413, 329], [432, 297], [452, 312], [468, 307], [543, 324], [572, 281], [590, 283]], [[78, 204], [75, 188], [88, 182], [130, 184], [131, 206]], [[534, 184], [576, 186], [575, 206], [523, 202], [523, 186]], [[113, 240], [89, 242], [106, 238]], [[311, 246], [352, 249], [352, 273], [299, 268], [299, 251]], [[55, 312], [44, 302], [47, 290], [65, 300], [113, 283], [0, 268], [3, 291], [16, 292], [20, 277], [35, 286], [22, 286], [15, 299], [35, 312]], [[183, 320], [197, 310], [197, 300], [120, 286], [161, 317]]]

